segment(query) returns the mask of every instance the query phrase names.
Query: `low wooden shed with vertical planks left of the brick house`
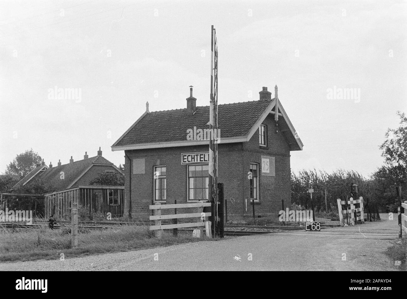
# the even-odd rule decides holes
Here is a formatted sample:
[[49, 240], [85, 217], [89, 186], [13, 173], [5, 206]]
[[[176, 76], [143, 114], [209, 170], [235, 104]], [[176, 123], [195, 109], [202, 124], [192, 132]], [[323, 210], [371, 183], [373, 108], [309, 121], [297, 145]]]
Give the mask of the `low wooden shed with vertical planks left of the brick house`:
[[70, 208], [82, 207], [86, 213], [122, 217], [124, 214], [124, 186], [77, 186], [44, 194], [45, 217], [54, 215], [69, 218]]

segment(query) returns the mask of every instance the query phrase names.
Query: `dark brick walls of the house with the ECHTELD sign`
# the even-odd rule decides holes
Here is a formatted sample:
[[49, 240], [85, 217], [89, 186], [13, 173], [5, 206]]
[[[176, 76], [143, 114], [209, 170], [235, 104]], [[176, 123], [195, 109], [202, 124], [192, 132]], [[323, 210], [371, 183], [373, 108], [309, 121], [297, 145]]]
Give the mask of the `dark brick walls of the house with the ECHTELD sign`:
[[[250, 205], [250, 187], [247, 172], [250, 162], [261, 165], [261, 156], [275, 157], [275, 177], [264, 176], [259, 171], [260, 200], [255, 205], [256, 215], [278, 215], [282, 209], [281, 200], [289, 205], [290, 192], [290, 152], [289, 144], [284, 133], [276, 132], [274, 117], [268, 116], [267, 124], [268, 147], [260, 148], [258, 131], [249, 142], [234, 144], [219, 144], [218, 182], [224, 184], [224, 198], [227, 202], [228, 220], [252, 216]], [[144, 174], [133, 174], [131, 166], [131, 214], [148, 220], [151, 215], [149, 205], [153, 201], [153, 172], [154, 166], [166, 166], [166, 204], [187, 202], [187, 166], [181, 164], [182, 153], [207, 152], [208, 146], [155, 148], [125, 151], [130, 159], [144, 158]], [[129, 213], [130, 194], [130, 161], [125, 157], [125, 214]], [[245, 210], [247, 199], [247, 212]], [[173, 210], [163, 210], [172, 213]], [[195, 212], [177, 210], [177, 213]]]

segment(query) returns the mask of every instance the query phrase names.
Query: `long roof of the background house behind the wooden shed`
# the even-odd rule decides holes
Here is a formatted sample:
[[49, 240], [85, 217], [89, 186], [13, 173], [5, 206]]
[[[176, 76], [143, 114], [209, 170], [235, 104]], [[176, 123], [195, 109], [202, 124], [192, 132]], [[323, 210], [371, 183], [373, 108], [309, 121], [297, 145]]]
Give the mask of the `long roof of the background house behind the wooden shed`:
[[[114, 166], [112, 162], [105, 159], [101, 155], [97, 155], [88, 159], [78, 160], [76, 162], [54, 166], [51, 168], [48, 168], [48, 166], [46, 165], [38, 166], [34, 168], [28, 175], [26, 175], [26, 177], [24, 177], [21, 181], [15, 184], [15, 186], [13, 186], [13, 189], [16, 190], [24, 186], [25, 184], [29, 183], [35, 176], [36, 179], [39, 178], [48, 186], [50, 186], [50, 192], [64, 190], [74, 186], [74, 183], [76, 183], [94, 165], [113, 166], [114, 168], [116, 168], [116, 170], [118, 170], [118, 168]], [[40, 171], [44, 167], [46, 167], [46, 169], [44, 171]], [[63, 179], [61, 179], [61, 172], [63, 172]]]

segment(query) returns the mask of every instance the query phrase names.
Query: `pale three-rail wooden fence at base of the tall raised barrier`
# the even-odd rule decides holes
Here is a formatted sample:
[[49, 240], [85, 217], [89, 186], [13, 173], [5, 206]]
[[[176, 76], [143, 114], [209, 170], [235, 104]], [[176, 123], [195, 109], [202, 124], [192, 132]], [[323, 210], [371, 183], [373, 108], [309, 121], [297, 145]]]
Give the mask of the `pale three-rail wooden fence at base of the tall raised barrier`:
[[[153, 216], [150, 216], [150, 220], [154, 220], [154, 225], [150, 226], [150, 230], [154, 231], [156, 237], [161, 237], [163, 229], [178, 229], [178, 228], [185, 228], [185, 227], [200, 227], [201, 231], [203, 231], [203, 227], [206, 230], [206, 236], [211, 237], [211, 222], [208, 221], [208, 217], [212, 216], [212, 213], [206, 212], [204, 213], [204, 207], [210, 207], [211, 203], [207, 203], [204, 201], [199, 201], [198, 203], [180, 203], [180, 204], [170, 204], [170, 205], [162, 205], [161, 203], [155, 203], [154, 205], [150, 205], [149, 209], [153, 210]], [[182, 208], [196, 208], [196, 213], [188, 213], [188, 214], [169, 214], [169, 215], [162, 215], [162, 209], [182, 209]], [[194, 223], [176, 223], [176, 224], [161, 224], [161, 220], [164, 219], [181, 219], [181, 218], [200, 218], [199, 222]]]

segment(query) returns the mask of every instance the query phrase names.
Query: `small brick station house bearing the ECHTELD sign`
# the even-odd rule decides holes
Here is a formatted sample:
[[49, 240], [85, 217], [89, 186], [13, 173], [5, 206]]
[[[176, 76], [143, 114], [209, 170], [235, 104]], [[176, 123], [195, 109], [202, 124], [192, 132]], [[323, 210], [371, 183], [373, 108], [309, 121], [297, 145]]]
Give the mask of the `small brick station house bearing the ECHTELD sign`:
[[[218, 182], [224, 184], [228, 219], [251, 216], [251, 199], [263, 217], [277, 216], [282, 199], [291, 203], [290, 151], [303, 144], [277, 86], [274, 98], [267, 87], [259, 94], [259, 100], [218, 105]], [[208, 199], [209, 106], [196, 106], [196, 100], [191, 88], [184, 109], [150, 112], [147, 103], [112, 145], [112, 151], [125, 151], [125, 214], [147, 217], [153, 201]]]

